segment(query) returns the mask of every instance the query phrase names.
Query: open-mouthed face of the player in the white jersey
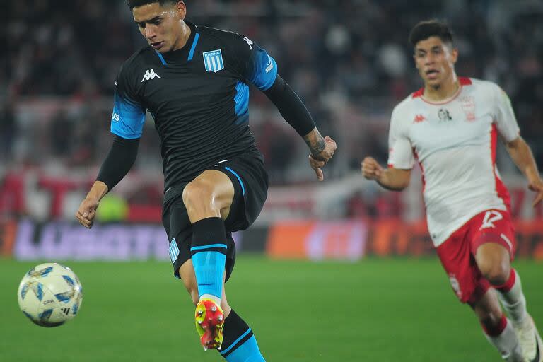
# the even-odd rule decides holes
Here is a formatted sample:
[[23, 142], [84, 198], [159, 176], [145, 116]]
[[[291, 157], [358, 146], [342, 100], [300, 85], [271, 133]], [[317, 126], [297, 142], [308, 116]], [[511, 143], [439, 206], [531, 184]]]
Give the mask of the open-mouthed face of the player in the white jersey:
[[443, 82], [454, 79], [458, 51], [440, 37], [428, 37], [416, 43], [413, 57], [426, 86], [438, 88]]

